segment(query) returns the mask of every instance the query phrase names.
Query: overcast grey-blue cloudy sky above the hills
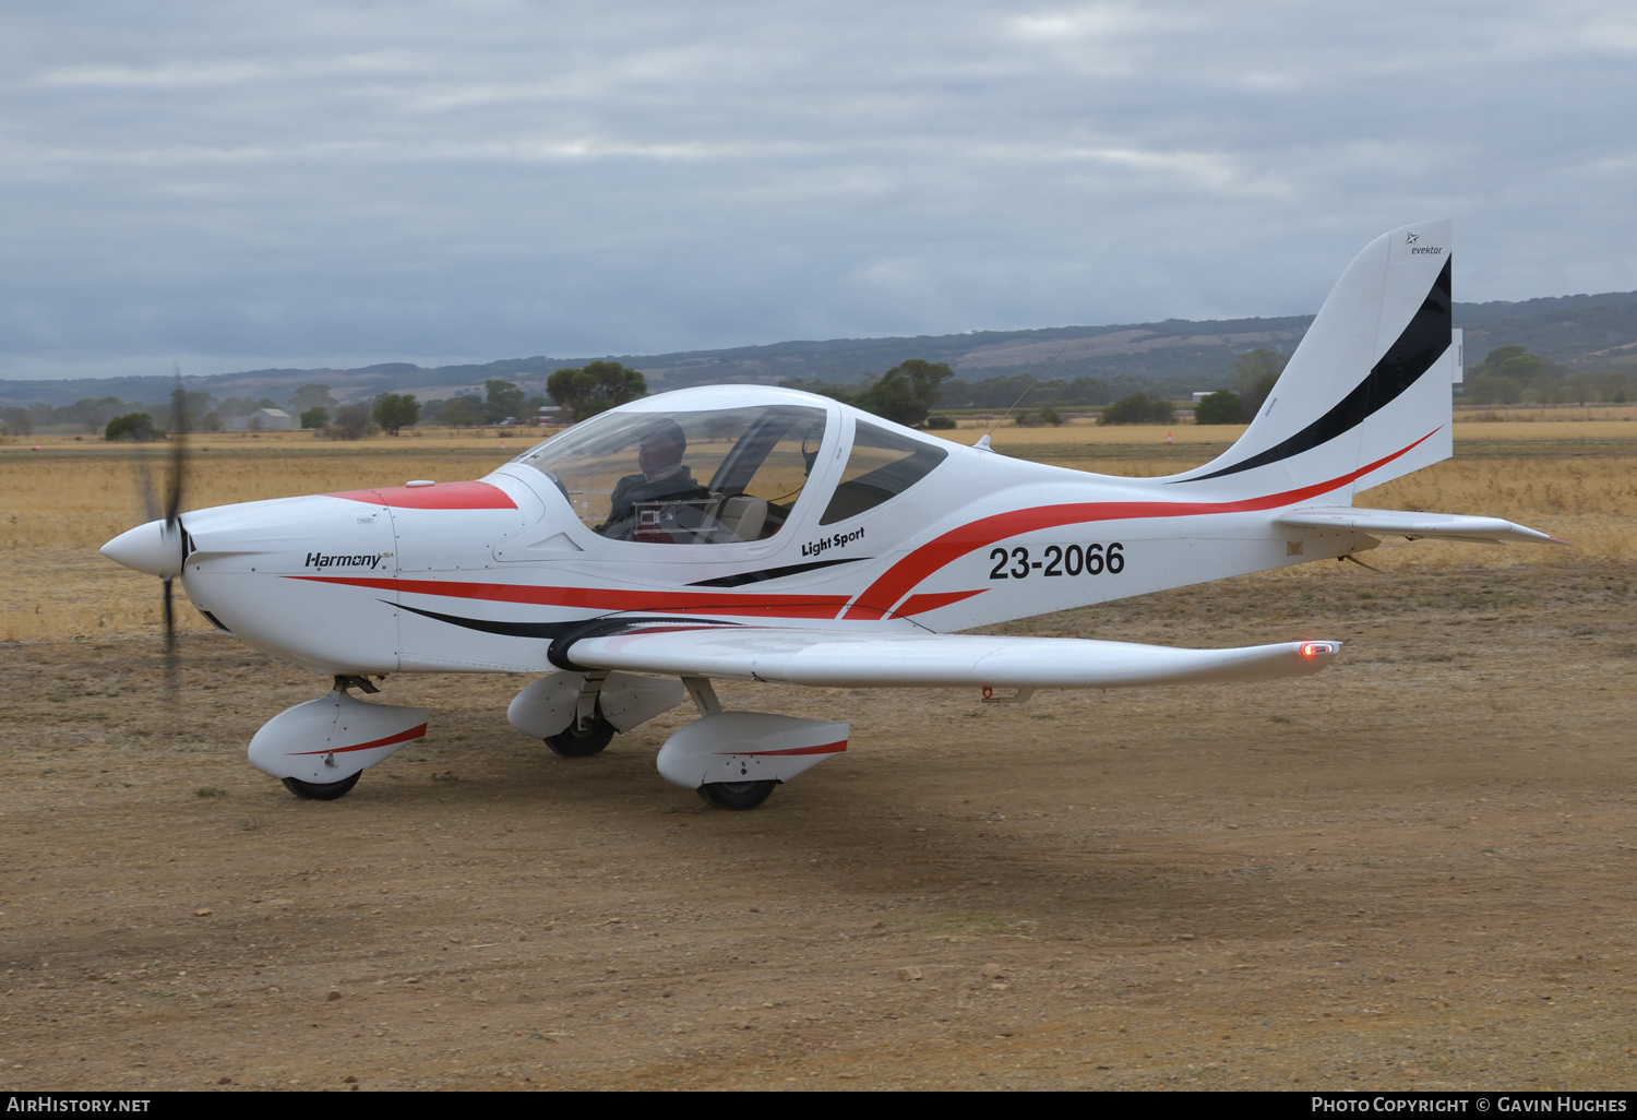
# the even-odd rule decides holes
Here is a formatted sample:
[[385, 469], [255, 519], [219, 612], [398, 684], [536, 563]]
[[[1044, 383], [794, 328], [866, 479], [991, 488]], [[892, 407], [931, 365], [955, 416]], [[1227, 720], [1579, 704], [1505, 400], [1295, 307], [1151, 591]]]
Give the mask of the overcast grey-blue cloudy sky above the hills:
[[1630, 0], [0, 8], [0, 377], [1637, 288]]

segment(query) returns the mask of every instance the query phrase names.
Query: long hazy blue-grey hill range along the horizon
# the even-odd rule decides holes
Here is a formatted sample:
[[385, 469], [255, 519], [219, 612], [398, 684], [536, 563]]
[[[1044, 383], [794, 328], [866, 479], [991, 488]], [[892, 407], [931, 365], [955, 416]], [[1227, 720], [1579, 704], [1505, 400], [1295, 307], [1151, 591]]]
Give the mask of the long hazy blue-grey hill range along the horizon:
[[[1113, 326], [1067, 326], [1036, 331], [974, 331], [894, 339], [776, 342], [678, 354], [606, 355], [647, 373], [652, 390], [710, 383], [778, 383], [784, 380], [855, 383], [912, 357], [948, 362], [961, 380], [979, 382], [1038, 373], [1053, 355], [1053, 378], [1095, 377], [1116, 383], [1141, 380], [1166, 393], [1228, 383], [1233, 362], [1256, 347], [1293, 350], [1311, 314], [1267, 319], [1166, 319]], [[1521, 303], [1457, 303], [1455, 326], [1467, 331], [1467, 360], [1477, 364], [1498, 345], [1588, 370], [1637, 368], [1637, 291], [1550, 296]], [[187, 386], [219, 400], [270, 398], [283, 404], [309, 382], [329, 385], [342, 401], [377, 393], [416, 393], [422, 400], [481, 393], [488, 378], [504, 378], [543, 391], [545, 378], [591, 357], [504, 359], [483, 365], [419, 367], [406, 362], [354, 370], [246, 370], [190, 377]], [[0, 404], [72, 404], [82, 398], [118, 396], [162, 401], [169, 377], [80, 378], [70, 382], [0, 380]]]

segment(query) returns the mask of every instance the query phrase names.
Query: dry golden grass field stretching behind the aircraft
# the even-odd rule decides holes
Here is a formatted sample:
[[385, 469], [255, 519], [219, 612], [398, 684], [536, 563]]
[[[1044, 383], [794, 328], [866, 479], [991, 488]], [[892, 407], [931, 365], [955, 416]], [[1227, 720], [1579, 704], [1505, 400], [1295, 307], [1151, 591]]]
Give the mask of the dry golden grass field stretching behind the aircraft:
[[[1504, 429], [1495, 436], [1490, 429]], [[1534, 437], [1545, 424], [1457, 426], [1452, 460], [1360, 495], [1355, 504], [1383, 509], [1483, 513], [1527, 526], [1547, 526], [1572, 540], [1578, 558], [1637, 555], [1637, 431], [1624, 421], [1580, 424], [1575, 437]], [[1164, 444], [1154, 427], [1000, 427], [1002, 454], [1110, 475], [1164, 475], [1187, 470], [1226, 450], [1239, 429], [1188, 429], [1220, 442], [1188, 439]], [[981, 431], [953, 432], [976, 442]], [[1468, 437], [1470, 436], [1470, 437]], [[39, 452], [33, 442], [0, 447], [0, 555], [10, 563], [0, 640], [110, 637], [154, 634], [159, 593], [152, 580], [103, 560], [97, 549], [142, 519], [138, 463], [162, 476], [164, 449], [110, 449], [52, 437]], [[1141, 442], [1148, 440], [1148, 442]], [[506, 444], [503, 449], [501, 444]], [[498, 439], [390, 439], [322, 444], [311, 436], [218, 437], [201, 445], [190, 475], [187, 508], [255, 501], [286, 495], [396, 486], [409, 478], [478, 478], [524, 447]], [[1377, 555], [1396, 552], [1387, 542]], [[1475, 552], [1478, 555], [1475, 555]], [[1424, 565], [1508, 567], [1516, 549], [1414, 544]], [[1313, 568], [1295, 568], [1311, 575]], [[1269, 576], [1274, 578], [1274, 576]], [[183, 625], [208, 624], [183, 611]]]

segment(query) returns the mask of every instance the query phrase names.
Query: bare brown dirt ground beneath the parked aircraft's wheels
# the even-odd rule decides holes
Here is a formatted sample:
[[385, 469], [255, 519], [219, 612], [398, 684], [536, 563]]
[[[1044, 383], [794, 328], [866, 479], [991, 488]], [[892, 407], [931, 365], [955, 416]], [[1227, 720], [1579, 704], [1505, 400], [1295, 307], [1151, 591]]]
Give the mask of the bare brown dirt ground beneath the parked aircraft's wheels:
[[725, 686], [853, 724], [743, 814], [655, 773], [681, 709], [563, 760], [393, 678], [431, 735], [301, 802], [244, 745], [324, 683], [0, 645], [0, 1082], [1630, 1087], [1637, 565], [1413, 555], [1012, 627], [1347, 642], [1303, 681]]

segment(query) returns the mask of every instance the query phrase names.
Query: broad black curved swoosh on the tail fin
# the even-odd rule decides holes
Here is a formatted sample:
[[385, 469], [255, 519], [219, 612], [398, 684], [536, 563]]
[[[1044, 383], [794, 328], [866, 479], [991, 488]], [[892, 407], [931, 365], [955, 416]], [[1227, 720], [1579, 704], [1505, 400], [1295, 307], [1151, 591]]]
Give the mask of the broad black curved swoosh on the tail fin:
[[1432, 368], [1432, 364], [1437, 362], [1444, 350], [1450, 345], [1450, 331], [1454, 329], [1450, 303], [1452, 262], [1454, 257], [1444, 259], [1442, 272], [1437, 273], [1437, 280], [1432, 282], [1432, 290], [1427, 291], [1426, 300], [1421, 301], [1421, 308], [1414, 313], [1414, 316], [1411, 316], [1409, 324], [1403, 329], [1403, 334], [1400, 334], [1398, 339], [1387, 347], [1387, 354], [1383, 354], [1382, 360], [1375, 364], [1370, 375], [1359, 382], [1359, 385], [1347, 393], [1347, 396], [1344, 396], [1336, 408], [1324, 413], [1324, 416], [1319, 416], [1290, 439], [1269, 447], [1265, 452], [1251, 455], [1251, 458], [1238, 462], [1233, 467], [1213, 470], [1208, 475], [1179, 478], [1175, 481], [1221, 478], [1223, 475], [1234, 475], [1241, 470], [1265, 467], [1267, 463], [1277, 463], [1282, 458], [1300, 455], [1301, 452], [1313, 450], [1319, 444], [1328, 444], [1337, 436], [1351, 432], [1372, 414], [1398, 400], [1398, 396], [1414, 385], [1423, 373]]

